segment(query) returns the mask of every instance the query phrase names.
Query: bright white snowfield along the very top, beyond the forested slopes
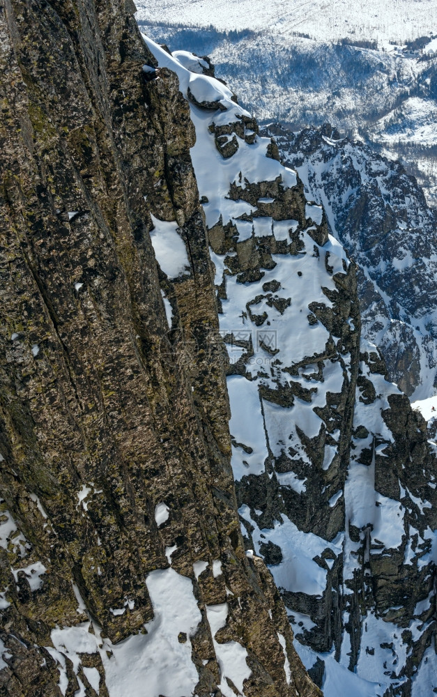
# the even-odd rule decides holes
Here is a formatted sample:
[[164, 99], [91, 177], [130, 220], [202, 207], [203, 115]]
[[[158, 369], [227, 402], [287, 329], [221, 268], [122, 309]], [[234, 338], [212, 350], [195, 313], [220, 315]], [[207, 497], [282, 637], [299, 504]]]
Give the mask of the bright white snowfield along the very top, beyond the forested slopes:
[[[156, 6], [137, 0], [137, 19], [155, 20]], [[274, 29], [309, 33], [322, 40], [413, 39], [437, 25], [434, 0], [160, 0], [162, 22], [217, 29]]]

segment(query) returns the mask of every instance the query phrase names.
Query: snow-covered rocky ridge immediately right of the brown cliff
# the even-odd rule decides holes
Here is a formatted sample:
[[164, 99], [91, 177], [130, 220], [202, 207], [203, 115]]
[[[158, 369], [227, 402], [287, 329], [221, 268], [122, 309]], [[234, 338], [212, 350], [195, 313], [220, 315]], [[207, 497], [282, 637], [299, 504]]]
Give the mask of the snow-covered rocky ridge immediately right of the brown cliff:
[[268, 563], [326, 697], [427, 694], [437, 521], [425, 423], [360, 342], [355, 268], [321, 206], [194, 56], [146, 42], [178, 74], [196, 127], [247, 553]]

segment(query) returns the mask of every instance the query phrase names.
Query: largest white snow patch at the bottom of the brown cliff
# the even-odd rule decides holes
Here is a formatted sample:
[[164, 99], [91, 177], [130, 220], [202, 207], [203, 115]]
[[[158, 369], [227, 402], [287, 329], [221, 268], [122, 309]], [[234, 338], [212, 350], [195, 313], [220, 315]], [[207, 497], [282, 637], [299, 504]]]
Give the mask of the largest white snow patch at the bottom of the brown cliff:
[[[65, 695], [68, 685], [65, 656], [72, 661], [77, 675], [81, 662], [79, 654], [97, 651], [105, 668], [109, 697], [124, 697], [126, 694], [144, 697], [145, 685], [147, 697], [162, 694], [181, 697], [193, 693], [199, 675], [191, 659], [190, 636], [201, 621], [201, 613], [194, 598], [192, 581], [169, 568], [148, 574], [146, 585], [155, 613], [153, 620], [145, 625], [147, 634], [132, 635], [114, 645], [108, 638], [100, 636], [100, 627], [95, 622], [95, 634], [89, 631], [91, 622], [52, 629], [54, 648], [46, 648], [59, 662], [62, 694]], [[79, 606], [82, 604], [80, 599]], [[121, 610], [113, 613], [119, 615]], [[187, 634], [185, 643], [178, 641], [180, 632]], [[92, 687], [98, 687], [95, 673], [85, 675]], [[81, 694], [84, 696], [85, 693]]]

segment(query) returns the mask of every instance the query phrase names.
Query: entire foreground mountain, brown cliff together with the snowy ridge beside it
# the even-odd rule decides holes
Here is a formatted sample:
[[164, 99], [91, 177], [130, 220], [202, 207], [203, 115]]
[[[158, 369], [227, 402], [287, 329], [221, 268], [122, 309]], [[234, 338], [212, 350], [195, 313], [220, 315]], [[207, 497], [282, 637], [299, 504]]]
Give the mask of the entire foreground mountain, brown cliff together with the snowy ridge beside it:
[[426, 694], [424, 420], [323, 208], [134, 9], [0, 15], [0, 694]]

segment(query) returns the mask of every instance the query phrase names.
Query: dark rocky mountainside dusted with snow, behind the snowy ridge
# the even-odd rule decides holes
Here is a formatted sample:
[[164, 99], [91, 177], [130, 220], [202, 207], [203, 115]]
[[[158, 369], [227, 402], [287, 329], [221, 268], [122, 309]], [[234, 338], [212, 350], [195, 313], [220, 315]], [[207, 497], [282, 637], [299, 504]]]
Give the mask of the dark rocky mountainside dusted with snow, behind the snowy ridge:
[[330, 126], [272, 125], [282, 158], [323, 204], [332, 233], [358, 263], [362, 330], [390, 378], [417, 399], [437, 386], [437, 215], [398, 162]]

